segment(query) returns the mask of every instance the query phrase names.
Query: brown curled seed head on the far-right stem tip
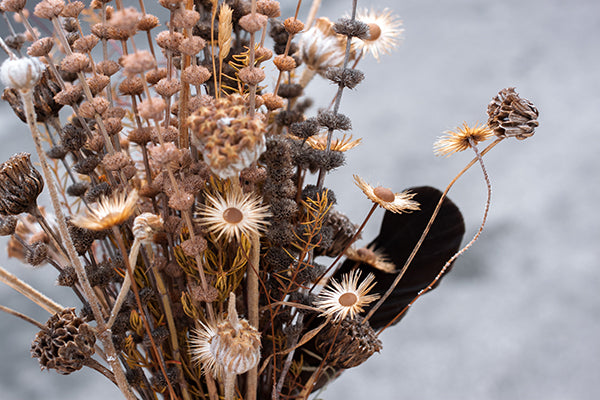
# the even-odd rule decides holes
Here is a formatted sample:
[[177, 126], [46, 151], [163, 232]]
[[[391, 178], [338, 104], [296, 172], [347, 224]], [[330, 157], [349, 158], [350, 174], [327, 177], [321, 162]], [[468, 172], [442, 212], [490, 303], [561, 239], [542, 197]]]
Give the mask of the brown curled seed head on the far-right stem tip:
[[515, 88], [502, 89], [488, 105], [488, 126], [499, 138], [515, 137], [519, 140], [533, 136], [539, 125], [538, 109], [519, 96]]

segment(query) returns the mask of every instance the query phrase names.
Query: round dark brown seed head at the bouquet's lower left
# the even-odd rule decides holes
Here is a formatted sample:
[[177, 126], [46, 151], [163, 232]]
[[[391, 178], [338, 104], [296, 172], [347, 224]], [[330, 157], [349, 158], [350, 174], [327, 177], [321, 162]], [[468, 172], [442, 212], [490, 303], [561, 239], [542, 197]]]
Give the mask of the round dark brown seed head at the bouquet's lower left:
[[54, 314], [31, 344], [31, 356], [42, 369], [68, 375], [80, 370], [94, 354], [96, 337], [90, 326], [67, 308]]

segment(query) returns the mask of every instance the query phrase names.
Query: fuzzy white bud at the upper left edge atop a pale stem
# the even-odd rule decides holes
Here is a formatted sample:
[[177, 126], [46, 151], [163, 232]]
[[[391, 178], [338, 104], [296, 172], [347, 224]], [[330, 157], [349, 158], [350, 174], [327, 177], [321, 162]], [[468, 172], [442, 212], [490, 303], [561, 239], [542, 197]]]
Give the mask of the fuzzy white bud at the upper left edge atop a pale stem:
[[39, 58], [9, 58], [0, 67], [0, 79], [9, 88], [27, 91], [35, 86], [45, 70]]

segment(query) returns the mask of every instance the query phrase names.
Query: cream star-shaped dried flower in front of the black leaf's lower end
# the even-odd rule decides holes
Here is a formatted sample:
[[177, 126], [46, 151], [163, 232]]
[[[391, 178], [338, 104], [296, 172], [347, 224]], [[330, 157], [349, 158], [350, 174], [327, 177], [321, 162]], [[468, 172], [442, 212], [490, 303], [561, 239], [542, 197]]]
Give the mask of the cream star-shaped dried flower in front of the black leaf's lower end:
[[368, 294], [375, 286], [373, 274], [358, 284], [360, 270], [344, 274], [342, 282], [331, 281], [331, 286], [325, 287], [319, 293], [315, 305], [321, 310], [321, 315], [331, 316], [335, 322], [344, 320], [347, 316], [354, 318], [363, 311], [363, 307], [379, 298], [378, 294]]

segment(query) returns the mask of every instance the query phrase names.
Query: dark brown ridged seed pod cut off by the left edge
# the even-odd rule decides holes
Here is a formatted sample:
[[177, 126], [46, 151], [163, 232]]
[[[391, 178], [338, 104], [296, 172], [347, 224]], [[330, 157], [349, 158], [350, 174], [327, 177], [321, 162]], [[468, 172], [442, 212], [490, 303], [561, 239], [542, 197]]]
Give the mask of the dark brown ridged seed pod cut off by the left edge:
[[17, 215], [37, 208], [44, 180], [30, 157], [19, 153], [0, 164], [0, 214]]

